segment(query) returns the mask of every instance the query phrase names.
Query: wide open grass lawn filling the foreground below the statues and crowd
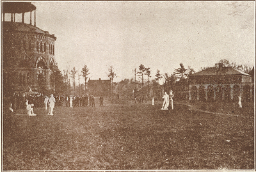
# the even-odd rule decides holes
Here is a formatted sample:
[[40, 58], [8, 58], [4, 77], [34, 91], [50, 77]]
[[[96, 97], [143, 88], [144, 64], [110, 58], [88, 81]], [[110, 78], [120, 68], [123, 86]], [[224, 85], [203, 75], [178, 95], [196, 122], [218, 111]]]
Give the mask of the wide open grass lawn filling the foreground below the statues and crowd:
[[254, 168], [253, 115], [160, 109], [107, 102], [14, 115], [3, 123], [3, 169]]

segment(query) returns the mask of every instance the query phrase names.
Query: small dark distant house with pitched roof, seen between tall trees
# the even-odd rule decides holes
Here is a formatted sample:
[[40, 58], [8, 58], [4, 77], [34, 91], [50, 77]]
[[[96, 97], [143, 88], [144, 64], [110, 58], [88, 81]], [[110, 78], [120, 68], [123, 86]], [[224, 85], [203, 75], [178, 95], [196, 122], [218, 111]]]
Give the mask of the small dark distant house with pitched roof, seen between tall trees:
[[93, 96], [108, 96], [111, 94], [111, 80], [110, 79], [89, 79], [88, 91]]

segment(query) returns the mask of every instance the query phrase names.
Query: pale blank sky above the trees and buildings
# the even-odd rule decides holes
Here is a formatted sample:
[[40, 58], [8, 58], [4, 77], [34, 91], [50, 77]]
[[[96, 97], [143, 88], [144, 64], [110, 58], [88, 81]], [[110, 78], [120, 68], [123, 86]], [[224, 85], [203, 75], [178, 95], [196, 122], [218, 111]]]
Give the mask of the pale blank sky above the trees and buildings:
[[131, 79], [140, 64], [173, 74], [220, 59], [254, 65], [254, 1], [62, 1], [33, 3], [36, 26], [57, 37], [60, 70], [87, 65], [91, 79]]

